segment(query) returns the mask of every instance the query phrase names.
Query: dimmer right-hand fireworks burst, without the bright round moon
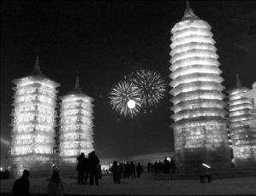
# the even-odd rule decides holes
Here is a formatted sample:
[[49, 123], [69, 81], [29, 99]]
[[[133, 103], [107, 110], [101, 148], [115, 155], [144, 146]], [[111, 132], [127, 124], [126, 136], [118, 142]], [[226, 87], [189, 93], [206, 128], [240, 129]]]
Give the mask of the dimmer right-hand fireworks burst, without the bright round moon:
[[143, 107], [153, 107], [164, 97], [166, 84], [158, 72], [140, 70], [130, 79], [139, 89]]

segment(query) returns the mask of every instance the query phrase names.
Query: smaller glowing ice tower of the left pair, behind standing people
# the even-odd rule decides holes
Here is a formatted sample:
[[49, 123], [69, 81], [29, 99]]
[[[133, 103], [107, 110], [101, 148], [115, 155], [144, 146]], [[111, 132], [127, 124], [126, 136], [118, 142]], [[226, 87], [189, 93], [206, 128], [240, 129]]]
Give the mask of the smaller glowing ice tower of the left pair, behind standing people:
[[80, 153], [86, 155], [93, 150], [92, 101], [79, 85], [61, 97], [60, 156], [62, 164], [74, 164]]

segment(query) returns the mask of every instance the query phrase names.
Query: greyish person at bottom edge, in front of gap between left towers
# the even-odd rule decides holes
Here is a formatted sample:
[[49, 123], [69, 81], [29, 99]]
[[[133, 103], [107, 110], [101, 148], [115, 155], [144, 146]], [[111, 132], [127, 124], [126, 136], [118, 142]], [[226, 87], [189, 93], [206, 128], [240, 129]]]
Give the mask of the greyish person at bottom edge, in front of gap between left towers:
[[63, 195], [63, 183], [59, 176], [58, 170], [53, 171], [50, 182], [47, 186], [47, 193], [49, 196], [62, 196]]

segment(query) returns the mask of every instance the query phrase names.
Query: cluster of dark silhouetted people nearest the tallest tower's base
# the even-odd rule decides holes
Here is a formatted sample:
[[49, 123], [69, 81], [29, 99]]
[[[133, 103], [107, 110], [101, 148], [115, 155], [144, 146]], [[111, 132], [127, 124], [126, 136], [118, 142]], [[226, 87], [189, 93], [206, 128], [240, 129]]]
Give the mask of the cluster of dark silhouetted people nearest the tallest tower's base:
[[149, 162], [147, 164], [147, 171], [148, 172], [155, 172], [156, 174], [164, 173], [169, 174], [170, 170], [173, 174], [176, 173], [176, 162], [173, 158], [168, 160], [166, 157], [164, 158], [164, 161], [156, 161], [155, 163]]

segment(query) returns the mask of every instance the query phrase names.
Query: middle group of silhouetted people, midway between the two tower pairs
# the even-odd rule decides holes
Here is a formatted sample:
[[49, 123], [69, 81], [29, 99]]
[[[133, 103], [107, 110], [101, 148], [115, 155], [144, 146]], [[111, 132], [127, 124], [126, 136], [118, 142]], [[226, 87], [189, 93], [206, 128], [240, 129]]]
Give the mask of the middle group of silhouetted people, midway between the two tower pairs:
[[140, 178], [143, 168], [140, 163], [135, 165], [134, 162], [131, 161], [129, 164], [117, 164], [117, 161], [115, 160], [110, 168], [110, 171], [112, 172], [114, 183], [120, 184], [120, 180], [122, 178]]

